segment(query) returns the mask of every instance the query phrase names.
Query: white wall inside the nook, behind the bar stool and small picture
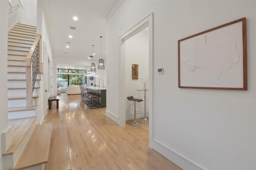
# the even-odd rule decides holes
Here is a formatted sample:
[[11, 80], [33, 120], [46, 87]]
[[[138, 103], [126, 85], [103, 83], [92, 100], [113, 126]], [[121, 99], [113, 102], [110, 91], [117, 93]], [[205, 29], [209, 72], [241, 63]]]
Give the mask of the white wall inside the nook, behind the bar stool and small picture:
[[[122, 46], [124, 46], [122, 48], [126, 59], [126, 96], [144, 100], [144, 92], [137, 91], [137, 89], [143, 90], [144, 85], [139, 80], [132, 80], [132, 64], [138, 64], [139, 66], [139, 79], [148, 76], [148, 31], [140, 31], [126, 40]], [[134, 105], [132, 104], [133, 102], [126, 100], [126, 120], [134, 119]], [[148, 110], [147, 105], [146, 107]], [[136, 104], [136, 111], [142, 112], [136, 115], [137, 118], [144, 117], [144, 102]]]

